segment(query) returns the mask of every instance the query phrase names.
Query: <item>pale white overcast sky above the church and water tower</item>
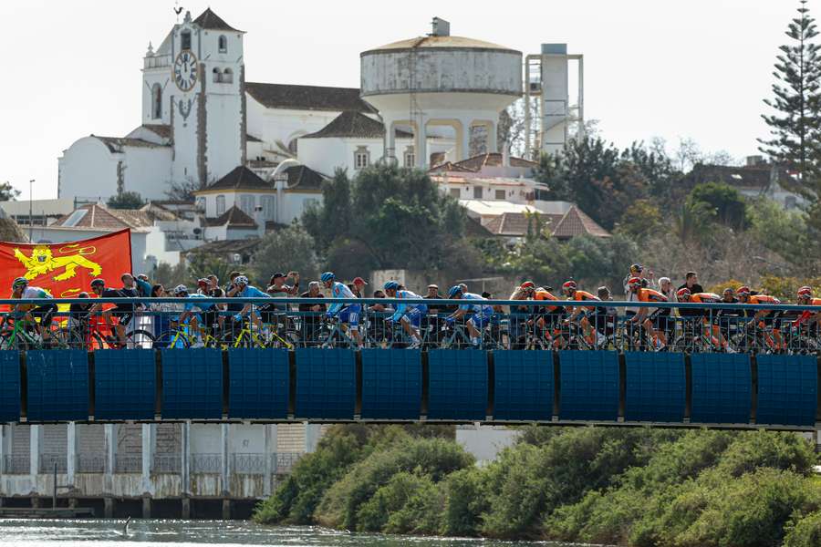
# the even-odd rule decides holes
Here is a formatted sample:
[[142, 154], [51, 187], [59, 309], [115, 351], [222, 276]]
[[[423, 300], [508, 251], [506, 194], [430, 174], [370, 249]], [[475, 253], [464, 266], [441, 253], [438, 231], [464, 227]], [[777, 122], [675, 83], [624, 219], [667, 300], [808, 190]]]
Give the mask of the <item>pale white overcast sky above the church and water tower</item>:
[[[735, 158], [766, 137], [777, 47], [797, 0], [573, 0], [412, 3], [357, 0], [179, 0], [209, 5], [247, 32], [247, 81], [359, 87], [359, 52], [430, 32], [539, 53], [566, 42], [585, 56], [585, 114], [601, 137], [694, 139]], [[140, 125], [140, 68], [176, 21], [174, 0], [0, 0], [0, 182], [34, 199], [57, 197], [57, 158], [91, 133], [119, 137]], [[821, 0], [810, 0], [821, 15]], [[183, 12], [184, 13], [184, 12]]]

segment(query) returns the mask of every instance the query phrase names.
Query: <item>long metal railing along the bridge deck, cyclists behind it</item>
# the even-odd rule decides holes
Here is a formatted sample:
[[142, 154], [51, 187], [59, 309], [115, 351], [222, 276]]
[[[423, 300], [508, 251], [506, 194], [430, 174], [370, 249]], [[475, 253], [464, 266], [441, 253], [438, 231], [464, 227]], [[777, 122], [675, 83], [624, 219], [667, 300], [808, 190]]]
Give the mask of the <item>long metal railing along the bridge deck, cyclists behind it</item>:
[[[20, 301], [0, 300], [0, 309]], [[382, 347], [821, 353], [821, 306], [322, 298], [27, 300], [0, 349]], [[49, 304], [50, 303], [50, 304]], [[339, 306], [339, 309], [334, 308]], [[420, 307], [416, 307], [420, 306]], [[639, 309], [639, 313], [634, 313]], [[335, 313], [327, 314], [327, 310]], [[458, 316], [453, 316], [454, 312]]]

